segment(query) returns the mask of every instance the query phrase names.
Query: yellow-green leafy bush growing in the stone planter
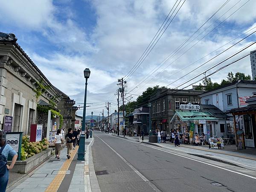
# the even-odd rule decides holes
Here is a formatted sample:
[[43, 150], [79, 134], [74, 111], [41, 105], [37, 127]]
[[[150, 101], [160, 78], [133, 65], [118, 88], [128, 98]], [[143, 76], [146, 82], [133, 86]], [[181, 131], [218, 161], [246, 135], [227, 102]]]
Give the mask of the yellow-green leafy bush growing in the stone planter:
[[22, 137], [21, 160], [26, 160], [48, 148], [49, 142], [46, 138], [38, 142], [29, 142], [27, 135]]

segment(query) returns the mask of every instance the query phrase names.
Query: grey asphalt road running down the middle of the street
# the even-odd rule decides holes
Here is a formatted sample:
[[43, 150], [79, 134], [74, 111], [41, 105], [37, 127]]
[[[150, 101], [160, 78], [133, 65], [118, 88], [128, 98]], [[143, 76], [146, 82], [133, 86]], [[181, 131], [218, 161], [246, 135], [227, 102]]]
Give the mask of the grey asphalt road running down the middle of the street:
[[178, 156], [177, 151], [170, 152], [97, 131], [94, 131], [94, 136], [95, 171], [108, 170], [110, 173], [97, 176], [102, 192], [252, 192], [256, 189], [256, 177], [253, 176], [256, 173], [251, 170], [247, 171], [251, 175], [239, 175], [235, 170], [238, 168], [234, 166], [192, 157], [204, 163], [198, 162], [191, 160], [189, 155], [186, 155], [187, 158], [182, 157], [185, 156], [182, 153]]

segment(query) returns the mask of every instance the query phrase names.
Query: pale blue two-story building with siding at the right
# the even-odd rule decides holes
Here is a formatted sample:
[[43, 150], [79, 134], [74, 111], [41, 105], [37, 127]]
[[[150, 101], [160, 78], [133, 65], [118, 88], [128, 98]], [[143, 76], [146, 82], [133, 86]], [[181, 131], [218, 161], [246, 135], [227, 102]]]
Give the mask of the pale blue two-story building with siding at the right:
[[[221, 111], [227, 113], [226, 134], [227, 137], [235, 138], [235, 128], [237, 131], [245, 131], [245, 136], [249, 135], [246, 133], [247, 128], [245, 128], [247, 123], [244, 121], [246, 120], [244, 115], [236, 115], [236, 125], [234, 125], [233, 115], [229, 111], [234, 108], [246, 107], [246, 100], [254, 95], [256, 95], [256, 81], [241, 80], [207, 91], [199, 96], [201, 97], [202, 104], [215, 105]], [[256, 135], [251, 136], [245, 137], [245, 145], [247, 147], [255, 147], [253, 138]]]

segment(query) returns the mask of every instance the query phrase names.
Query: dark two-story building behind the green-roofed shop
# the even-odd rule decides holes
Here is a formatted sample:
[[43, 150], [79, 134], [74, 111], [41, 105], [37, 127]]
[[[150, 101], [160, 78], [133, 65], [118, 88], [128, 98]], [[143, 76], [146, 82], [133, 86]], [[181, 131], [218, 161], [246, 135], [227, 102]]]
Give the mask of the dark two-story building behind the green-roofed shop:
[[154, 96], [151, 96], [149, 102], [151, 103], [151, 126], [152, 130], [166, 129], [170, 131], [174, 128], [171, 119], [175, 114], [175, 110], [180, 109], [180, 104], [200, 103], [198, 95], [204, 93], [203, 90], [177, 90], [160, 88]]

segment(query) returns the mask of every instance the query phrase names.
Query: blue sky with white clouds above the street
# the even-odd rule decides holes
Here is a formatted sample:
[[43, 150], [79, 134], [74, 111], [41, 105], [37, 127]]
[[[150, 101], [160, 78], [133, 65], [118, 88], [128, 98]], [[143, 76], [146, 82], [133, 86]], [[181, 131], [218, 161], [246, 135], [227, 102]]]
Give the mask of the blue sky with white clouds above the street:
[[[94, 105], [88, 108], [87, 113], [90, 114], [91, 111], [94, 111], [94, 114], [99, 114], [104, 108], [103, 103], [107, 101], [113, 103], [111, 106], [111, 112], [113, 112], [116, 109], [114, 92], [117, 88], [117, 79], [125, 76], [140, 58], [175, 2], [176, 0], [3, 0], [0, 6], [0, 31], [14, 33], [18, 39], [17, 43], [32, 58], [49, 81], [75, 99], [76, 102], [83, 102], [84, 78], [82, 71], [84, 68], [90, 68], [91, 77], [88, 81], [87, 99]], [[208, 26], [209, 28], [195, 38], [187, 48], [195, 44], [246, 2], [247, 0], [228, 1], [197, 34]], [[195, 32], [223, 3], [223, 0], [186, 0], [148, 58], [128, 79], [128, 92]], [[230, 9], [232, 6], [234, 7]], [[177, 73], [181, 67], [188, 66], [241, 35], [250, 27], [256, 26], [255, 7], [256, 1], [248, 1], [195, 47], [180, 58], [178, 57], [183, 52], [175, 55], [131, 93], [141, 94], [147, 87]], [[229, 9], [230, 11], [228, 11]], [[223, 15], [225, 12], [227, 13]], [[221, 15], [223, 16], [220, 17]], [[213, 23], [215, 20], [217, 21]], [[193, 78], [196, 74], [227, 58], [254, 40], [255, 35], [242, 41], [241, 44], [201, 67], [195, 73], [175, 82], [170, 88]], [[218, 52], [236, 41], [221, 48]], [[251, 49], [255, 49], [255, 46]], [[212, 53], [186, 70], [167, 78], [160, 83], [160, 86], [172, 83], [218, 52]], [[243, 52], [241, 55], [245, 53]], [[173, 61], [175, 62], [167, 67]], [[163, 72], [160, 73], [160, 71]], [[212, 80], [219, 82], [229, 71], [234, 73], [240, 71], [251, 75], [250, 58], [245, 58], [236, 65], [216, 73], [212, 76]], [[155, 78], [152, 79], [153, 77]], [[129, 99], [136, 99], [136, 96]], [[82, 114], [82, 110], [79, 111], [79, 114]]]

